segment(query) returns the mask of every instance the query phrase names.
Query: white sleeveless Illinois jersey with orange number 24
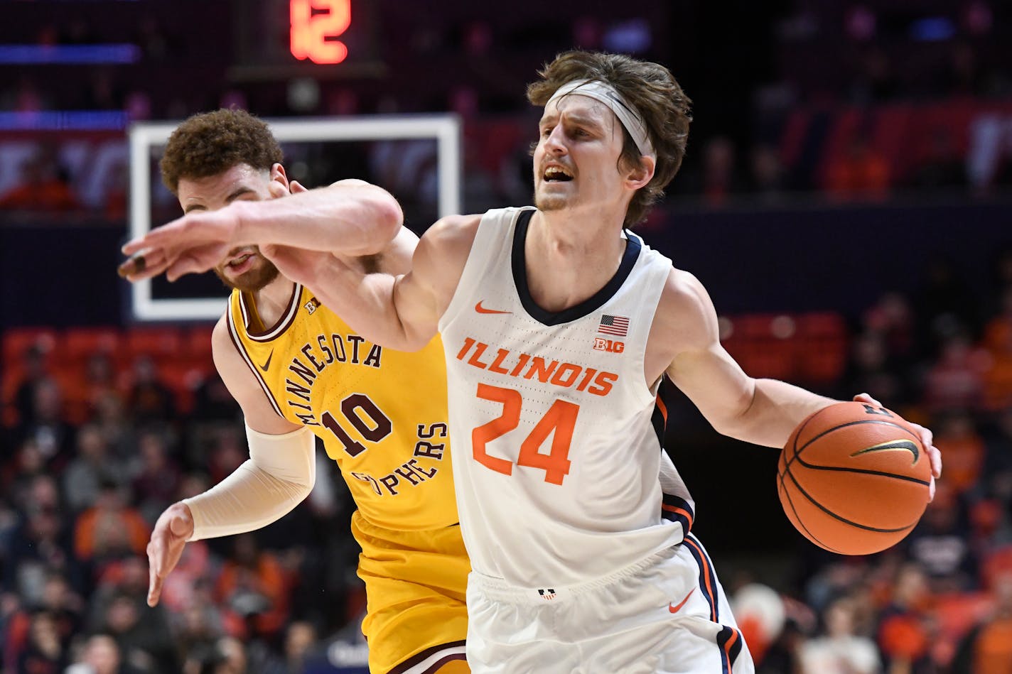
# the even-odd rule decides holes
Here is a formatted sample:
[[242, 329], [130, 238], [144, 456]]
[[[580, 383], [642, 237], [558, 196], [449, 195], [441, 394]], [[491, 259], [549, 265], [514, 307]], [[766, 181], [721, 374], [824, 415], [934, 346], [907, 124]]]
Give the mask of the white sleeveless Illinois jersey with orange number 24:
[[651, 390], [644, 374], [671, 261], [626, 233], [604, 287], [546, 312], [525, 274], [534, 213], [482, 217], [439, 330], [472, 567], [513, 586], [554, 588], [679, 542], [693, 513], [662, 448], [660, 385]]

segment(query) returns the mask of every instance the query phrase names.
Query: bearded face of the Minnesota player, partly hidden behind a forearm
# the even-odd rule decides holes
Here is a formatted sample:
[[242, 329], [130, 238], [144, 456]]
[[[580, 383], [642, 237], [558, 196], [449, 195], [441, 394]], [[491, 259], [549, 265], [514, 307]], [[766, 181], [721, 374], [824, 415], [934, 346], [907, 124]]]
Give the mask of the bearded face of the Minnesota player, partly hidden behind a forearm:
[[[281, 174], [283, 177], [283, 173]], [[179, 204], [184, 213], [218, 210], [233, 201], [260, 201], [273, 198], [276, 187], [271, 171], [258, 171], [248, 164], [206, 178], [180, 178]], [[286, 191], [286, 190], [285, 190]], [[242, 246], [228, 252], [215, 273], [229, 287], [255, 292], [277, 278], [277, 267], [260, 255], [257, 246]]]

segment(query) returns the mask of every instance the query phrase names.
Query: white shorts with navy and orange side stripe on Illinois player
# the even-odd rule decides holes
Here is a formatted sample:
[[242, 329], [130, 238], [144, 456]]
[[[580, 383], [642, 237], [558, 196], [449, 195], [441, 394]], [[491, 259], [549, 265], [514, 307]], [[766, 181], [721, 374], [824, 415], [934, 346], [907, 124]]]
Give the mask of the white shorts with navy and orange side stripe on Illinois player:
[[686, 539], [570, 588], [526, 589], [472, 572], [475, 674], [754, 674], [713, 565]]

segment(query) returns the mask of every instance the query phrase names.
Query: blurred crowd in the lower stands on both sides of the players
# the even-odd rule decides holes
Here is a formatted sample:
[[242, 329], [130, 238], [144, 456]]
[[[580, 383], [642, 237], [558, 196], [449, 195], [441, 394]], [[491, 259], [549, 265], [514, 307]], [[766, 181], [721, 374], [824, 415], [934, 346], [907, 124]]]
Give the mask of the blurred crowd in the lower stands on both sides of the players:
[[[899, 545], [845, 558], [804, 541], [786, 580], [731, 581], [760, 672], [1012, 671], [1012, 249], [987, 293], [962, 278], [937, 261], [915, 290], [840, 317], [844, 360], [824, 390], [929, 426], [945, 471]], [[342, 629], [354, 644], [351, 504], [322, 451], [307, 502], [255, 534], [188, 545], [146, 605], [154, 520], [247, 450], [206, 329], [133, 330], [4, 335], [2, 671], [299, 672]]]

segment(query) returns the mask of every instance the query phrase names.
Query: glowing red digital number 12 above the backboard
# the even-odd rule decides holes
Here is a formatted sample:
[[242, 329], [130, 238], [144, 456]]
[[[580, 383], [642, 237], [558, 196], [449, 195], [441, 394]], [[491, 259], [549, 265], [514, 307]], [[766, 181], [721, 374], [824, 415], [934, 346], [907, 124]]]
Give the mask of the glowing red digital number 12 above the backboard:
[[333, 38], [351, 25], [351, 0], [289, 0], [288, 9], [291, 56], [319, 64], [344, 61], [348, 48]]

